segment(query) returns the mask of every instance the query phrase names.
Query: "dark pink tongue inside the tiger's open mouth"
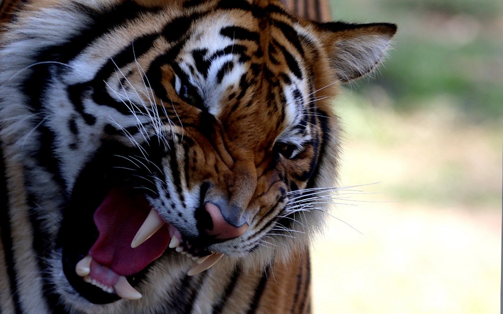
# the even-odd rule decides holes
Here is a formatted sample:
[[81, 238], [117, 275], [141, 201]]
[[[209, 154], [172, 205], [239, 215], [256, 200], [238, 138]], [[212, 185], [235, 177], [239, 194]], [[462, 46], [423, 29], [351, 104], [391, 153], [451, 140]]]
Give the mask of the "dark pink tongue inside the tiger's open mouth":
[[90, 250], [93, 260], [119, 275], [129, 276], [161, 256], [171, 240], [167, 225], [137, 248], [131, 248], [150, 209], [143, 195], [130, 188], [112, 188], [94, 214], [100, 236]]

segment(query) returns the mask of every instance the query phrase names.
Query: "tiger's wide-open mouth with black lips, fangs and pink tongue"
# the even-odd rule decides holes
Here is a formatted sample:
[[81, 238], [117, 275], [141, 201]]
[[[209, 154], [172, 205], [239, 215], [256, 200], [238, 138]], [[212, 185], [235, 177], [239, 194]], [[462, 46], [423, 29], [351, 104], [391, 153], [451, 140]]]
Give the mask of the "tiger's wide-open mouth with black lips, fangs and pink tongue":
[[144, 176], [132, 176], [121, 165], [119, 157], [128, 155], [124, 148], [119, 155], [107, 147], [81, 171], [64, 213], [59, 241], [63, 270], [74, 289], [97, 304], [138, 299], [134, 286], [165, 253], [177, 251], [194, 260], [189, 275], [216, 263], [222, 254], [160, 219], [148, 194], [137, 188], [145, 182], [136, 177]]

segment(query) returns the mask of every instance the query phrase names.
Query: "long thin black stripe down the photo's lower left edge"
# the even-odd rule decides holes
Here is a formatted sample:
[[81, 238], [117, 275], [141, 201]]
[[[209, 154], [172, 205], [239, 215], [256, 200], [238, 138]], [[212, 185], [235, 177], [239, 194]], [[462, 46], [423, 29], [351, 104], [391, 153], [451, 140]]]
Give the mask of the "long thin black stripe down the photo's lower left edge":
[[[0, 143], [1, 144], [1, 143]], [[4, 246], [4, 260], [7, 264], [7, 275], [9, 276], [9, 288], [14, 303], [14, 310], [16, 314], [21, 314], [21, 302], [19, 299], [19, 291], [17, 287], [16, 271], [14, 267], [14, 249], [11, 237], [11, 217], [9, 215], [9, 195], [7, 193], [7, 172], [4, 163], [3, 147], [0, 146], [0, 175], [2, 175], [2, 182], [0, 182], [0, 236], [2, 237], [2, 245]]]

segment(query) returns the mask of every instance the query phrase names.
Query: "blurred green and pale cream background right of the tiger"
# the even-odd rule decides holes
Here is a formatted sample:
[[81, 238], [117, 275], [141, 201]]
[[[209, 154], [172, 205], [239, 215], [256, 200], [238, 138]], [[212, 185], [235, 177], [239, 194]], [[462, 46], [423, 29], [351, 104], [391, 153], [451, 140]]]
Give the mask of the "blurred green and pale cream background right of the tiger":
[[499, 313], [503, 1], [331, 5], [399, 28], [335, 103], [342, 185], [362, 186], [314, 246], [314, 313]]

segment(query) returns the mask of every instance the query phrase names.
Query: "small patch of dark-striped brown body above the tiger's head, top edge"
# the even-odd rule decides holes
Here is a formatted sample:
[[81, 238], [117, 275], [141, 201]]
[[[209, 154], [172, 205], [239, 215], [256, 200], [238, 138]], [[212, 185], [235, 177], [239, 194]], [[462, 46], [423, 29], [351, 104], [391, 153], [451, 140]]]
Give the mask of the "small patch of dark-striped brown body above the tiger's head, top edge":
[[332, 20], [330, 0], [281, 0], [295, 15], [318, 22]]

